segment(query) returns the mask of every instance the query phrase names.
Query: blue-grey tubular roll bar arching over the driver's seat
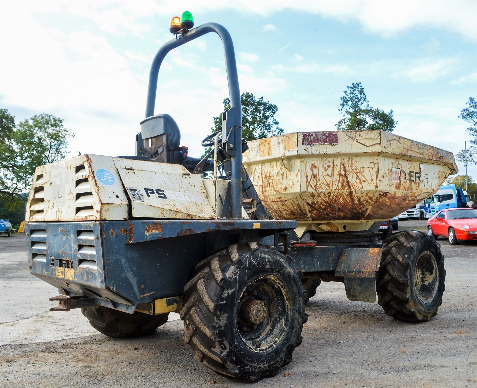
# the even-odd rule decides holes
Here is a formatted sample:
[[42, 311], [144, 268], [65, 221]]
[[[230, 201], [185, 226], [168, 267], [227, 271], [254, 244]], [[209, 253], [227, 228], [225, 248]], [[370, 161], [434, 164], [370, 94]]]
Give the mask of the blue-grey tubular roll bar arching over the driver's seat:
[[[242, 218], [242, 103], [240, 101], [239, 77], [237, 75], [237, 63], [235, 61], [234, 45], [230, 34], [224, 26], [218, 23], [205, 23], [192, 30], [186, 35], [172, 39], [162, 45], [157, 51], [149, 72], [149, 85], [147, 88], [147, 101], [145, 118], [154, 115], [156, 105], [157, 78], [161, 63], [166, 54], [182, 46], [183, 44], [205, 35], [215, 32], [220, 37], [224, 48], [225, 69], [227, 72], [228, 93], [230, 109], [222, 122], [222, 139], [227, 140], [227, 153], [231, 156], [231, 179], [230, 179], [230, 216]], [[230, 133], [232, 131], [232, 133]]]

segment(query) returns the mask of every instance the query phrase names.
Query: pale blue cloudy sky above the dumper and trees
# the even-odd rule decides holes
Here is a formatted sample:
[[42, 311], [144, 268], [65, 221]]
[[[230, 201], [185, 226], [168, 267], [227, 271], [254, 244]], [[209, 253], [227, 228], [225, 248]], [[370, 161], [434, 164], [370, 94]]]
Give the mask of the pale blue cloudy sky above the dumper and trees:
[[[477, 97], [476, 1], [3, 1], [0, 108], [64, 119], [69, 156], [134, 154], [152, 58], [184, 10], [228, 29], [240, 91], [276, 104], [285, 133], [335, 130], [343, 91], [361, 82], [371, 106], [393, 109], [394, 133], [453, 153], [471, 139], [458, 115]], [[198, 157], [227, 96], [207, 34], [167, 55], [155, 112]]]

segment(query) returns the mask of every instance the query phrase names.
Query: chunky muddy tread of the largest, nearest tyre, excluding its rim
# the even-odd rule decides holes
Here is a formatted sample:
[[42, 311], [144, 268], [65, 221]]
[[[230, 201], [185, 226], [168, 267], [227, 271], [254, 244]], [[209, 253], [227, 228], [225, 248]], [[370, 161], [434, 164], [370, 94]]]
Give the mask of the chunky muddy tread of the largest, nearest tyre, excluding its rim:
[[[226, 308], [222, 307], [224, 298], [232, 294], [235, 286], [239, 284], [238, 280], [234, 281], [240, 273], [237, 268], [255, 265], [248, 260], [253, 254], [257, 254], [257, 251], [260, 255], [268, 254], [269, 257], [273, 257], [273, 260], [280, 260], [290, 268], [291, 273], [288, 275], [297, 286], [302, 302], [301, 309], [298, 308], [301, 313], [296, 313], [299, 316], [298, 319], [290, 322], [291, 336], [294, 341], [287, 346], [281, 346], [280, 358], [265, 358], [261, 365], [238, 366], [240, 362], [246, 364], [240, 358], [242, 353], [246, 353], [238, 351], [239, 344], [235, 344], [239, 347], [238, 350], [229, 351], [231, 347], [224, 338], [220, 337], [225, 334], [226, 325], [236, 326], [236, 318], [233, 317], [233, 321], [228, 323], [228, 317], [221, 315], [218, 309]], [[274, 376], [281, 366], [290, 363], [293, 350], [301, 344], [301, 329], [307, 320], [303, 306], [306, 294], [301, 286], [301, 274], [294, 271], [291, 260], [287, 260], [275, 247], [256, 243], [234, 244], [202, 260], [196, 265], [195, 270], [197, 275], [184, 287], [186, 303], [180, 311], [180, 317], [184, 321], [184, 342], [190, 345], [197, 361], [201, 361], [218, 374], [249, 382], [265, 376]], [[294, 323], [298, 324], [293, 327]], [[231, 353], [234, 353], [233, 357]]]

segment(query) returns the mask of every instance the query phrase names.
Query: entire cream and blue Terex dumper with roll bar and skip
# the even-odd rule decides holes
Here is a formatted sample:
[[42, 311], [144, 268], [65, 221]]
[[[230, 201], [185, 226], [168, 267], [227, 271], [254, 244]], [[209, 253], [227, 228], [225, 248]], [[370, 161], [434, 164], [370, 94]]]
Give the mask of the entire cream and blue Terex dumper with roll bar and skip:
[[[242, 381], [291, 362], [321, 281], [343, 283], [354, 301], [377, 293], [398, 320], [434, 317], [445, 288], [439, 245], [416, 231], [383, 243], [378, 228], [456, 172], [452, 153], [379, 130], [244, 141], [230, 34], [192, 28], [185, 15], [153, 60], [135, 155], [35, 170], [25, 233], [31, 274], [59, 290], [52, 310], [81, 308], [112, 337], [152, 335], [179, 312], [193, 357]], [[202, 141], [213, 161], [190, 157], [172, 116], [155, 114], [166, 54], [210, 32], [230, 97], [222, 129]]]

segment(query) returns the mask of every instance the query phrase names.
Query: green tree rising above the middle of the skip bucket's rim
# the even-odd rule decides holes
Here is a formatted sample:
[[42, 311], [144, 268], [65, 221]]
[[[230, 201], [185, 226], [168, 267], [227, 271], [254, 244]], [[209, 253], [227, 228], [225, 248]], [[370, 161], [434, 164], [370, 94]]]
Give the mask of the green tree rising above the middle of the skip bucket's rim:
[[363, 131], [380, 129], [392, 132], [397, 121], [394, 120], [393, 110], [389, 113], [369, 106], [361, 82], [352, 83], [346, 87], [341, 97], [339, 111], [343, 118], [336, 124], [338, 131]]

